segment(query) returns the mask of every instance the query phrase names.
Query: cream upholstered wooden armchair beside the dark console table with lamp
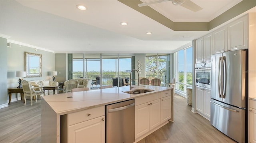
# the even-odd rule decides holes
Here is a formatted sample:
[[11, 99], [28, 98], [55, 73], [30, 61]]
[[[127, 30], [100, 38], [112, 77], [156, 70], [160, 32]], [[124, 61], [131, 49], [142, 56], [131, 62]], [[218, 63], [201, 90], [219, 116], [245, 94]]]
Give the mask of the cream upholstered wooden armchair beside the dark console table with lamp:
[[[33, 104], [32, 102], [32, 98], [33, 96], [35, 96], [35, 100], [37, 102], [37, 95], [41, 96], [42, 94], [44, 94], [44, 91], [42, 90], [42, 87], [32, 87], [32, 85], [26, 81], [26, 80], [22, 80], [21, 81], [22, 84], [22, 89], [23, 89], [23, 93], [24, 93], [24, 105], [26, 105], [26, 96], [30, 96], [30, 101], [31, 101], [31, 106]], [[39, 89], [39, 90], [35, 90], [35, 89]]]

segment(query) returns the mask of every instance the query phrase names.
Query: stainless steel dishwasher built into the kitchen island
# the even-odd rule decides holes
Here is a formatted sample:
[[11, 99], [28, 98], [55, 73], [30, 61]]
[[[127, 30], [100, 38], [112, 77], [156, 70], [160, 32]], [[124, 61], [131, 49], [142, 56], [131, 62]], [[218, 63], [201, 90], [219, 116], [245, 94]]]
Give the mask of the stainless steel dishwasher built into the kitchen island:
[[135, 99], [106, 105], [106, 143], [135, 141]]

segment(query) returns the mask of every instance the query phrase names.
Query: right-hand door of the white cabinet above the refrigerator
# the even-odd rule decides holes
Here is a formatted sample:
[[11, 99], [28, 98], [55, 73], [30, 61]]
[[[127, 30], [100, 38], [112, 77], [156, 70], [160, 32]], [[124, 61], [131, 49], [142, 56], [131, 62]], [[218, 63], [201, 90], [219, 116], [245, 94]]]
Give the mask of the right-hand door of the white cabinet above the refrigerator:
[[248, 16], [228, 24], [228, 50], [248, 48]]

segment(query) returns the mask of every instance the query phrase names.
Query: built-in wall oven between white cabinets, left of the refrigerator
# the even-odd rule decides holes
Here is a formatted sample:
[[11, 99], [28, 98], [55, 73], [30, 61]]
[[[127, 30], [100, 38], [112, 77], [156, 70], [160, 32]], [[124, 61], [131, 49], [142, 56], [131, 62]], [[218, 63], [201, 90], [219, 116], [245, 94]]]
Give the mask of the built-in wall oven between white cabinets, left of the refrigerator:
[[197, 63], [195, 66], [196, 85], [211, 88], [211, 62]]

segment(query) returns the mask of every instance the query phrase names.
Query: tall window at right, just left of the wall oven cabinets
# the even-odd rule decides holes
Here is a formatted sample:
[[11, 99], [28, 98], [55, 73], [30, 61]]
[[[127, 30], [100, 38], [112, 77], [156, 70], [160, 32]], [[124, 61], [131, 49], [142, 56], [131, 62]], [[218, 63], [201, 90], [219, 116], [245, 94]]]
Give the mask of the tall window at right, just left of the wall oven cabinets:
[[186, 87], [192, 86], [192, 47], [180, 50], [175, 54], [176, 90], [186, 93]]

